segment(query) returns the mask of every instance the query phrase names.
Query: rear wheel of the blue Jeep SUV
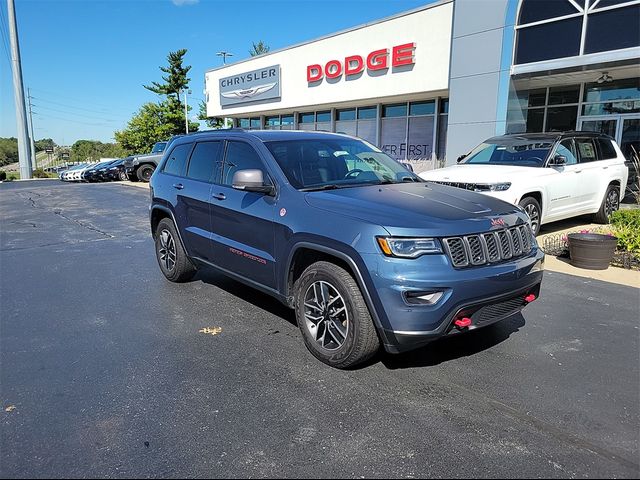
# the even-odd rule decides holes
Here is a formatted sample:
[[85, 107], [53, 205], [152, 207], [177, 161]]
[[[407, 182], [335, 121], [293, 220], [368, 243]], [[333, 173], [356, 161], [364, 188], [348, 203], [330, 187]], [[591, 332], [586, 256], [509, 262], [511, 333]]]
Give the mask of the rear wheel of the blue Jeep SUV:
[[186, 282], [193, 278], [196, 269], [187, 257], [171, 220], [163, 218], [156, 228], [156, 258], [160, 270], [171, 282]]

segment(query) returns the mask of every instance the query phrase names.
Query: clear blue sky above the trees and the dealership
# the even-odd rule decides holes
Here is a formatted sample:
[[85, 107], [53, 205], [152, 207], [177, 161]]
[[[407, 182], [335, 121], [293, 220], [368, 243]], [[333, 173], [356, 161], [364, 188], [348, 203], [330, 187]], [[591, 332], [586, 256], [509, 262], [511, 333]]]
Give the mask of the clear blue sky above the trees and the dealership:
[[[271, 50], [420, 7], [433, 0], [15, 0], [25, 95], [35, 138], [59, 145], [113, 142], [146, 102], [143, 85], [162, 81], [167, 54], [185, 64], [197, 106], [204, 74], [249, 57], [252, 42]], [[16, 136], [7, 3], [0, 2], [0, 137]]]

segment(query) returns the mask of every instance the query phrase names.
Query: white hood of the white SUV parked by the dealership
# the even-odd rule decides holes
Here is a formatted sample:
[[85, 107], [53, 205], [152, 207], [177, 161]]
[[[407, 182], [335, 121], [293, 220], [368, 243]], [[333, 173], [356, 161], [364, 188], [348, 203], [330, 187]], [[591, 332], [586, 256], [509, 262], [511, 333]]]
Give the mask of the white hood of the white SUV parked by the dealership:
[[539, 167], [514, 165], [454, 165], [420, 173], [424, 180], [464, 183], [513, 182], [519, 178], [544, 175], [548, 170]]

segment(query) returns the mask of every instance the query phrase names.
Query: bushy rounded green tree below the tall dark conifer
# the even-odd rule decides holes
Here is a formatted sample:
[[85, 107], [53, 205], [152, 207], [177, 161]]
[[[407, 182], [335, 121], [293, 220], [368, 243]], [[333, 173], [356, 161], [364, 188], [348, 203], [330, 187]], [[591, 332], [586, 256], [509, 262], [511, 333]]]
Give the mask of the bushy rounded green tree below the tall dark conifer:
[[[198, 124], [189, 122], [189, 131], [197, 130]], [[129, 153], [147, 153], [154, 143], [180, 133], [184, 133], [184, 109], [175, 98], [168, 97], [163, 102], [144, 104], [114, 137]]]

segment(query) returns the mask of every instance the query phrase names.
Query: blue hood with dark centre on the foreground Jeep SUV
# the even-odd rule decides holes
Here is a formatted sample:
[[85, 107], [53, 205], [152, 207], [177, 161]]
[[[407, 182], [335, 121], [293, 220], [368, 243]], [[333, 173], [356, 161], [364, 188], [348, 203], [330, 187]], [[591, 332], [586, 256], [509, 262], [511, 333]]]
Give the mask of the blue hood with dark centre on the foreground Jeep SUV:
[[526, 222], [518, 207], [487, 195], [434, 183], [370, 185], [309, 192], [307, 203], [380, 225], [391, 235], [452, 236], [486, 232], [492, 220]]

